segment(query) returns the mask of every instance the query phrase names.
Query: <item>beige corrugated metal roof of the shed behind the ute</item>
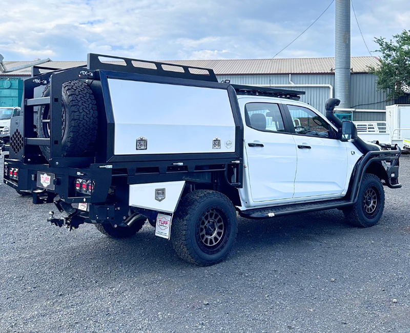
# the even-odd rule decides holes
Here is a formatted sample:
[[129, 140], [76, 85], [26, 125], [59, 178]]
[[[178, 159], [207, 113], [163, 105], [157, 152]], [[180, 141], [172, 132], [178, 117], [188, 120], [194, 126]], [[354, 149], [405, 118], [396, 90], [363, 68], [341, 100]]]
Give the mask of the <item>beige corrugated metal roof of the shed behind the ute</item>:
[[[217, 75], [240, 74], [325, 74], [333, 73], [335, 58], [285, 58], [285, 59], [220, 59], [220, 60], [162, 60], [163, 63], [211, 68]], [[30, 61], [5, 61], [7, 68], [30, 63]], [[115, 61], [112, 61], [115, 63]], [[71, 68], [85, 65], [86, 61], [49, 61], [41, 66]], [[352, 57], [353, 73], [368, 73], [369, 67], [378, 67], [377, 57]], [[1, 73], [0, 76], [31, 75], [31, 68]]]

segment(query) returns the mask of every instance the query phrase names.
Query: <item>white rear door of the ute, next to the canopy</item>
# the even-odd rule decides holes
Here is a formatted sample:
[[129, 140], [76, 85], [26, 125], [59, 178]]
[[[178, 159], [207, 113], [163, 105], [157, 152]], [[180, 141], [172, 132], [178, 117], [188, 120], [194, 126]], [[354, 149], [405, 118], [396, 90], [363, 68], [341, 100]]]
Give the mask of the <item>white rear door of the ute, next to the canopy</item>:
[[268, 102], [244, 106], [247, 171], [252, 200], [256, 202], [293, 197], [296, 147], [292, 135], [285, 133], [281, 108]]

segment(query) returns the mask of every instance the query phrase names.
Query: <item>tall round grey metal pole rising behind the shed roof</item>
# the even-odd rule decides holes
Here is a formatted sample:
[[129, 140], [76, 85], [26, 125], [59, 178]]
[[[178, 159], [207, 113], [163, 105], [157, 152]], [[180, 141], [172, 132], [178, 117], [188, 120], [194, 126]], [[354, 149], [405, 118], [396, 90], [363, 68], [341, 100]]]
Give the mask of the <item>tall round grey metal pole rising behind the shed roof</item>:
[[350, 97], [350, 0], [336, 0], [335, 97], [339, 108], [351, 108]]

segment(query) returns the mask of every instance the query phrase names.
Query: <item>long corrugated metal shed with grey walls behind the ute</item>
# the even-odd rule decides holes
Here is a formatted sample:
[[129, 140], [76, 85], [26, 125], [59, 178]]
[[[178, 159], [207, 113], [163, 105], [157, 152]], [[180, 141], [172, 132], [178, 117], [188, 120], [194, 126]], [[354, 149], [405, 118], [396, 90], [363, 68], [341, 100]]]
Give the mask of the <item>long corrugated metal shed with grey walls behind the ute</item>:
[[[110, 61], [115, 63], [115, 61]], [[211, 68], [219, 81], [230, 79], [233, 84], [243, 85], [320, 85], [317, 87], [292, 87], [306, 94], [301, 101], [309, 103], [324, 113], [324, 103], [334, 94], [334, 58], [293, 58], [293, 59], [220, 59], [220, 60], [164, 60], [163, 62], [193, 67]], [[8, 68], [29, 63], [28, 61], [6, 62]], [[71, 68], [85, 65], [85, 61], [49, 61], [42, 66]], [[357, 109], [385, 109], [386, 93], [377, 89], [377, 77], [369, 73], [370, 67], [378, 67], [377, 57], [352, 57], [352, 107]], [[31, 75], [31, 69], [11, 73], [0, 73], [0, 77], [21, 77]], [[337, 97], [337, 96], [334, 96]], [[360, 120], [381, 120], [380, 113], [357, 114]], [[366, 118], [367, 117], [367, 118]]]

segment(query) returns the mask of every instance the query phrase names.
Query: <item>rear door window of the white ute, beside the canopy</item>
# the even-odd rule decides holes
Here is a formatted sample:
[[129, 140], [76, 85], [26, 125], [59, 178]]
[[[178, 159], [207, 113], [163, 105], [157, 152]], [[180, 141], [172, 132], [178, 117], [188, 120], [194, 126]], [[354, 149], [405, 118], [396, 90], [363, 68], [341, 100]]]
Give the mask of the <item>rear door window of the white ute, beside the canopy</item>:
[[245, 105], [247, 126], [263, 132], [284, 132], [279, 106], [273, 103], [247, 103]]

